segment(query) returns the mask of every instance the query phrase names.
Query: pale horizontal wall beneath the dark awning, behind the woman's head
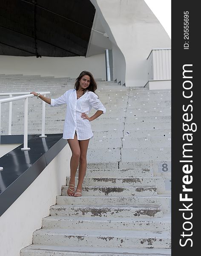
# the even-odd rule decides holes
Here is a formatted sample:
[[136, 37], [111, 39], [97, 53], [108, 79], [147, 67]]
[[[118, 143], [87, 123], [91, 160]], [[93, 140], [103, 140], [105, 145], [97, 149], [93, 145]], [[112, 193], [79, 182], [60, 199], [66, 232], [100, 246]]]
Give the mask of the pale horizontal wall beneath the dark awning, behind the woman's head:
[[85, 57], [19, 57], [0, 55], [0, 74], [23, 74], [76, 78], [83, 71], [106, 80], [105, 55]]

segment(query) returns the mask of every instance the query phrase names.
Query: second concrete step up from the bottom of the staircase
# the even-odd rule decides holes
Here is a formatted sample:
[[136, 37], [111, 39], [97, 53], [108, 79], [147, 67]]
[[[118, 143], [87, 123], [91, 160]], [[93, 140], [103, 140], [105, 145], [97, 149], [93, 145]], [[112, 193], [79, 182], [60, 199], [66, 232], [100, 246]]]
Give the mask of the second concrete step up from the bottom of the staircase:
[[66, 230], [40, 229], [33, 234], [33, 244], [89, 247], [170, 248], [168, 231]]

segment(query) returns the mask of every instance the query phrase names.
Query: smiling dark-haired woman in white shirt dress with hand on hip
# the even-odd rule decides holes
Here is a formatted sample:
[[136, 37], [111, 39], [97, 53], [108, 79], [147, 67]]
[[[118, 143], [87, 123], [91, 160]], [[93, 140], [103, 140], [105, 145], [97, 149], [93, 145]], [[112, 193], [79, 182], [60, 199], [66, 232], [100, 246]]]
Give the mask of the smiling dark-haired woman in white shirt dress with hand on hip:
[[[86, 152], [89, 140], [93, 137], [90, 122], [106, 112], [98, 96], [94, 93], [96, 89], [97, 84], [93, 75], [88, 71], [82, 71], [76, 79], [75, 89], [67, 90], [57, 99], [49, 99], [40, 95], [40, 93], [31, 92], [51, 106], [67, 104], [63, 139], [68, 140], [72, 151], [70, 181], [67, 190], [69, 196], [78, 197], [82, 195], [82, 183], [86, 174]], [[91, 108], [95, 108], [97, 111], [89, 117]], [[75, 173], [78, 165], [78, 186], [75, 190]]]

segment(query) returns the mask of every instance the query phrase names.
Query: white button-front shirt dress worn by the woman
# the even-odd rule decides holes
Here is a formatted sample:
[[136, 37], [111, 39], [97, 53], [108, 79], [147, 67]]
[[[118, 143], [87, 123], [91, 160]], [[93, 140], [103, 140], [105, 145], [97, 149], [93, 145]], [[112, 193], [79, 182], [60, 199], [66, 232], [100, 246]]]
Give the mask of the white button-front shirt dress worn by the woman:
[[77, 99], [75, 89], [67, 90], [57, 99], [51, 99], [51, 106], [66, 104], [66, 118], [63, 127], [63, 139], [74, 139], [75, 131], [78, 140], [88, 140], [93, 137], [91, 124], [88, 119], [81, 118], [81, 113], [89, 112], [92, 108], [106, 112], [105, 107], [98, 99], [98, 96], [86, 90], [83, 96]]

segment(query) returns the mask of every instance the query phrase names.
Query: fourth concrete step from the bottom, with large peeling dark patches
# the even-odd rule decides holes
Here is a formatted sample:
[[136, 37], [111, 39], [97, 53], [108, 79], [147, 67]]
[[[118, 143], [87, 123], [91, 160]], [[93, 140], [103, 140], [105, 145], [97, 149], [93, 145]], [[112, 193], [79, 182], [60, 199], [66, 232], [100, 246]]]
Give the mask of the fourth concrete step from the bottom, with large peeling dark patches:
[[[75, 197], [74, 197], [75, 199]], [[86, 216], [86, 217], [162, 217], [160, 205], [53, 205], [51, 216]]]

